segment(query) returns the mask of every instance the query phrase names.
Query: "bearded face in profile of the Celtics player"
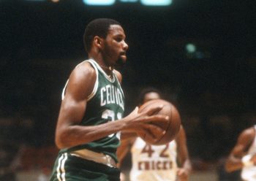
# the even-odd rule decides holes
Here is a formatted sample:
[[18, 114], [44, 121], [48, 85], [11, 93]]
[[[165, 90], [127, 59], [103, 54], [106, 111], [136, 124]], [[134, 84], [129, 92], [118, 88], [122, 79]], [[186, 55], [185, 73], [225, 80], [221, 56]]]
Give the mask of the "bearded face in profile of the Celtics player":
[[118, 25], [109, 28], [108, 36], [105, 39], [105, 47], [102, 55], [110, 66], [120, 66], [127, 61], [128, 45], [125, 40], [124, 29]]

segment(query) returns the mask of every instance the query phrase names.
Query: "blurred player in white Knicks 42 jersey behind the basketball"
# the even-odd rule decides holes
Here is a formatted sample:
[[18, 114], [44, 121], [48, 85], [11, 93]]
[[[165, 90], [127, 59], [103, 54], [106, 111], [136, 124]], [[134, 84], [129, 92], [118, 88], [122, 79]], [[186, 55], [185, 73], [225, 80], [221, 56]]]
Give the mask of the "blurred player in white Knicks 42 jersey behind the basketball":
[[[140, 103], [160, 97], [155, 88], [146, 88], [141, 93]], [[191, 163], [182, 126], [176, 139], [167, 145], [149, 145], [135, 134], [122, 133], [121, 146], [117, 150], [119, 166], [129, 150], [132, 154], [130, 181], [175, 181], [177, 176], [180, 181], [188, 180]]]

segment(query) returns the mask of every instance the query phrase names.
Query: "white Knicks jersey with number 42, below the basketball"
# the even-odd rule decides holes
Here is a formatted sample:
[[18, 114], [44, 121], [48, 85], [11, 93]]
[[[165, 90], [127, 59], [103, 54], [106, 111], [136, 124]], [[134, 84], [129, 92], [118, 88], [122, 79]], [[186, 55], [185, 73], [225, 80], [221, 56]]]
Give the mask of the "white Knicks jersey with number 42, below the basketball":
[[176, 142], [147, 145], [138, 137], [132, 145], [130, 181], [175, 181], [177, 172]]

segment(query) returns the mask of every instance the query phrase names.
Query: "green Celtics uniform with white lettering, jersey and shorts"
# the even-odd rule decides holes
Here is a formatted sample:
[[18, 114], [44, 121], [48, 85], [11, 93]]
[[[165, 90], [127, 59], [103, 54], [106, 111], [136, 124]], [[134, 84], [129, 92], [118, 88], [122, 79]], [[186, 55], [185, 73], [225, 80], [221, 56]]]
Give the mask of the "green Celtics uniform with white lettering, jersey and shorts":
[[[97, 80], [88, 98], [86, 113], [80, 126], [96, 126], [121, 119], [124, 115], [124, 93], [116, 74], [110, 79], [94, 60], [90, 59], [87, 62], [91, 63], [96, 70]], [[64, 91], [62, 97], [64, 97]], [[119, 140], [120, 133], [111, 134], [93, 142], [60, 150], [51, 180], [119, 180], [118, 169], [70, 154], [86, 149], [109, 155], [117, 162], [116, 149], [119, 146]]]

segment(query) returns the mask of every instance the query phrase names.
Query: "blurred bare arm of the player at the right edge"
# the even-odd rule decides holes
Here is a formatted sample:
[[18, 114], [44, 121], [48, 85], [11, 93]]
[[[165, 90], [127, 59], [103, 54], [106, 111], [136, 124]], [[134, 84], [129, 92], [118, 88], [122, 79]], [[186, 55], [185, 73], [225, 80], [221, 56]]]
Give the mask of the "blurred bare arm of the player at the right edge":
[[243, 158], [244, 155], [246, 155], [246, 150], [248, 149], [249, 145], [252, 144], [254, 137], [254, 128], [248, 128], [238, 136], [236, 145], [231, 151], [225, 163], [225, 169], [227, 170], [227, 172], [234, 172], [238, 169], [243, 168], [244, 163], [242, 162], [241, 159]]

